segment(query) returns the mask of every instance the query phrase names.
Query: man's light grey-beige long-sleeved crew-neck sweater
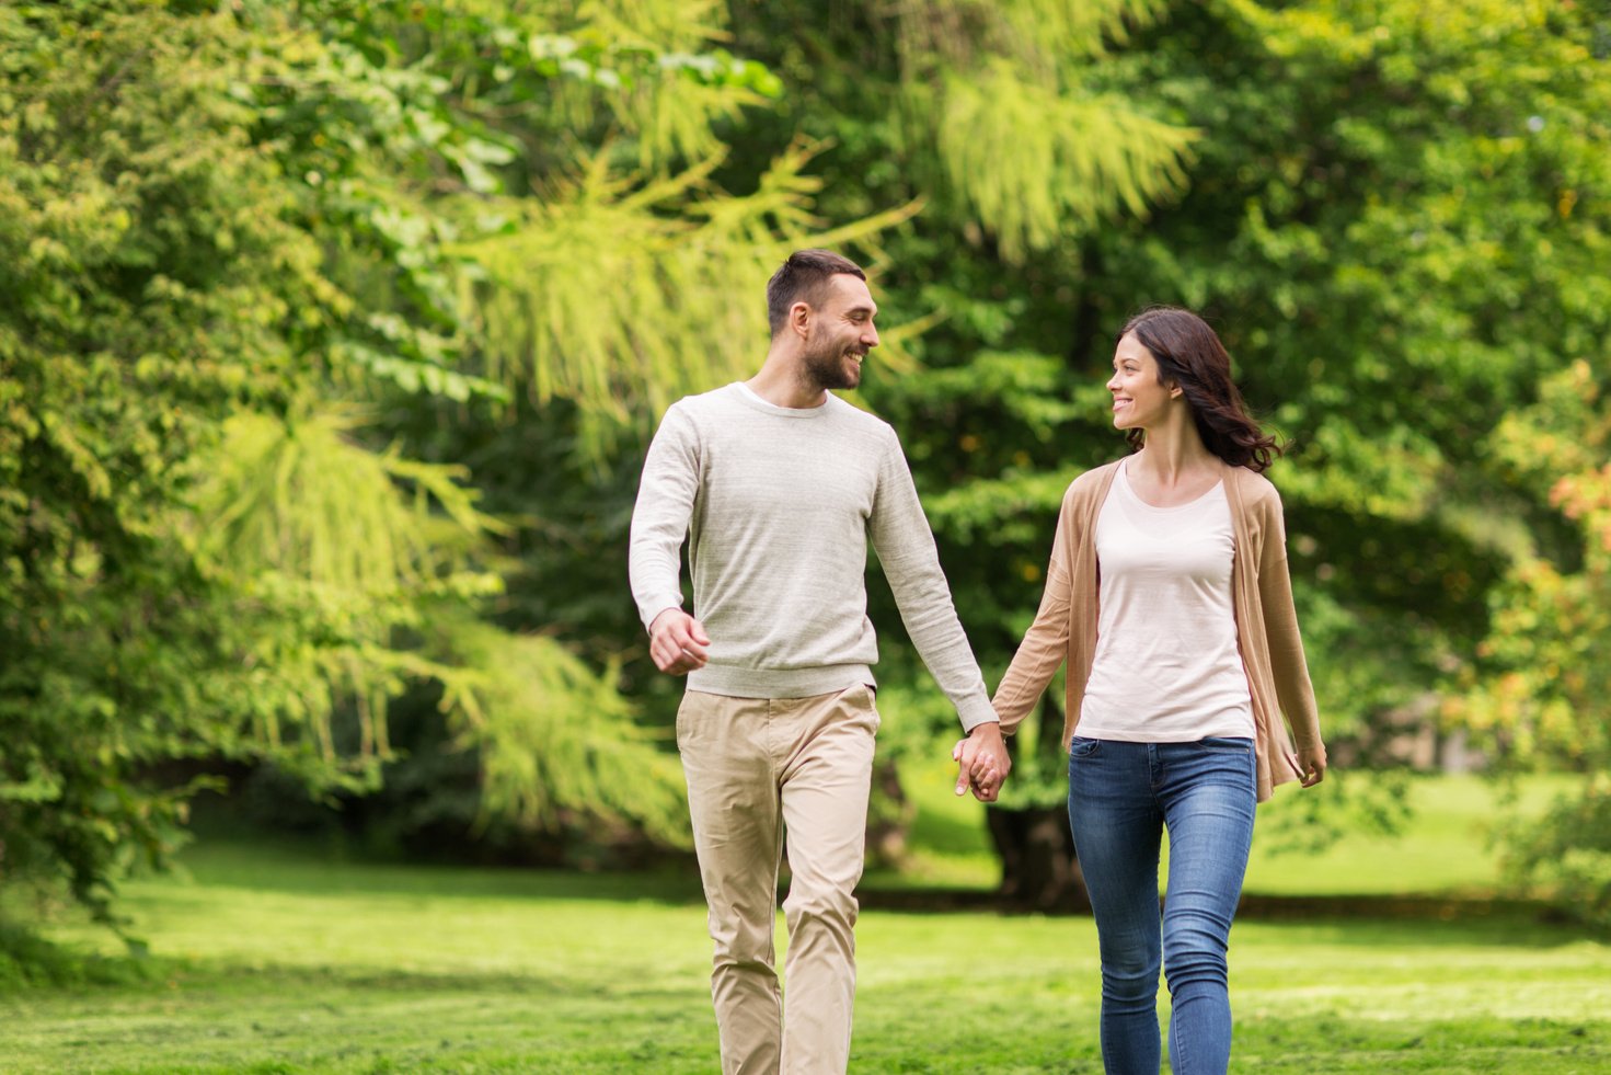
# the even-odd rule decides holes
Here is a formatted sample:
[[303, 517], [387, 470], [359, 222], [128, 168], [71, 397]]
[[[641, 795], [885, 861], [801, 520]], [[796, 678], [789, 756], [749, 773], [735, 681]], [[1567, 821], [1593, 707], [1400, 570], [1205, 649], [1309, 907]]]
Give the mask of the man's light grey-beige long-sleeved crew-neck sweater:
[[836, 395], [781, 408], [741, 384], [672, 405], [643, 464], [628, 575], [648, 629], [680, 608], [688, 538], [710, 662], [688, 690], [809, 698], [876, 683], [867, 545], [965, 730], [996, 720], [901, 440]]

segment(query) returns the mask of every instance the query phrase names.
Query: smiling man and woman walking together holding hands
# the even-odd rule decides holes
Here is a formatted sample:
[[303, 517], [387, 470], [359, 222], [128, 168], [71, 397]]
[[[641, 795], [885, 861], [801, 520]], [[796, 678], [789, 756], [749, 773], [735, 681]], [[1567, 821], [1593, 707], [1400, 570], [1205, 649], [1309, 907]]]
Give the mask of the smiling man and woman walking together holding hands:
[[[878, 347], [863, 271], [789, 255], [748, 382], [667, 409], [632, 519], [651, 656], [686, 675], [677, 746], [715, 943], [722, 1070], [844, 1072], [855, 885], [878, 730], [872, 538], [920, 656], [962, 719], [957, 793], [994, 801], [1004, 743], [1068, 662], [1068, 816], [1102, 959], [1102, 1059], [1157, 1075], [1160, 969], [1176, 1075], [1231, 1056], [1226, 944], [1278, 783], [1326, 770], [1287, 574], [1279, 454], [1195, 314], [1116, 338], [1113, 425], [1131, 453], [1063, 496], [1046, 591], [994, 698], [968, 646], [896, 432], [831, 393]], [[693, 611], [683, 611], [686, 538]], [[1290, 732], [1289, 732], [1290, 725]], [[788, 990], [773, 915], [788, 830]], [[1166, 898], [1158, 849], [1170, 833]]]

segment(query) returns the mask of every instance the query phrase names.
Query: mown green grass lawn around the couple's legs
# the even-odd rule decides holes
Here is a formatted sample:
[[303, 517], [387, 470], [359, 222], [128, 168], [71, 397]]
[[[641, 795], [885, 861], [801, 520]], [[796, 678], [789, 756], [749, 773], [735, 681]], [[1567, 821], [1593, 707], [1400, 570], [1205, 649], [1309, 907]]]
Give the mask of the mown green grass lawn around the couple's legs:
[[[187, 865], [126, 888], [148, 982], [0, 993], [0, 1070], [717, 1070], [686, 877], [245, 843]], [[1100, 1070], [1089, 919], [873, 909], [859, 948], [852, 1072]], [[1611, 946], [1535, 915], [1245, 920], [1231, 965], [1239, 1072], [1611, 1070]]]

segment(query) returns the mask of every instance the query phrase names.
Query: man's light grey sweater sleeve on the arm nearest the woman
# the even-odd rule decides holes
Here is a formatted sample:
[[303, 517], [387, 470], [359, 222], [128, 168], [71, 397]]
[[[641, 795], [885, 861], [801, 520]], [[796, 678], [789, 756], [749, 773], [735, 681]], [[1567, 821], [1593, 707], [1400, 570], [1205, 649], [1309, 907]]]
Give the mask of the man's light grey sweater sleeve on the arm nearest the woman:
[[889, 430], [878, 467], [868, 535], [912, 645], [957, 708], [962, 727], [971, 732], [981, 724], [994, 722], [996, 711], [984, 693], [984, 677], [957, 619], [950, 585], [934, 548], [934, 532], [928, 527], [894, 430]]

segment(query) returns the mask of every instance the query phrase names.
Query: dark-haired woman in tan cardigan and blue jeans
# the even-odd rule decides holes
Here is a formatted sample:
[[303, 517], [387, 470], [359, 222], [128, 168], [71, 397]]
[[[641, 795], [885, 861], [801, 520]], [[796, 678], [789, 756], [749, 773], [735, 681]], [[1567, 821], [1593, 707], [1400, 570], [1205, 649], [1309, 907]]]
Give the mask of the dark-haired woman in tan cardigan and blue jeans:
[[1102, 949], [1107, 1070], [1158, 1072], [1162, 957], [1173, 1070], [1224, 1072], [1253, 806], [1326, 772], [1281, 498], [1261, 475], [1281, 448], [1186, 309], [1133, 318], [1107, 387], [1134, 453], [1068, 487], [1041, 611], [994, 704], [1012, 730], [1066, 658], [1068, 819]]

